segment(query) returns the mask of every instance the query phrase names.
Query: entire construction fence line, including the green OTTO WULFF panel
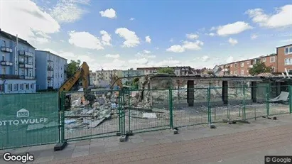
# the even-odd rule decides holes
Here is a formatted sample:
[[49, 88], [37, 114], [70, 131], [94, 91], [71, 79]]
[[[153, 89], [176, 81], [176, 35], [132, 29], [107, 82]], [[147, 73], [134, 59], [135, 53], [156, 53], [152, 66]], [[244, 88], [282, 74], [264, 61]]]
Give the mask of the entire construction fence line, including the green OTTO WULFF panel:
[[[291, 114], [292, 86], [0, 95], [0, 148], [63, 143]], [[224, 94], [223, 94], [224, 93]], [[71, 97], [71, 106], [65, 109]], [[223, 96], [222, 96], [223, 95]]]

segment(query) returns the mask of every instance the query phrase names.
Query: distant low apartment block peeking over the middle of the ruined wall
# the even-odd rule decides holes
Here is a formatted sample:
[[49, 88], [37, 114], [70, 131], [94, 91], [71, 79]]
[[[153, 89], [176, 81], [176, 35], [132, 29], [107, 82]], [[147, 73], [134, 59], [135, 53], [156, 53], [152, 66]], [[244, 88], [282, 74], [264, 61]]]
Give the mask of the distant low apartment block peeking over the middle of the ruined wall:
[[[143, 70], [144, 75], [151, 75], [157, 73], [159, 69], [163, 67], [137, 67], [137, 70]], [[185, 67], [171, 67], [175, 75], [193, 75], [193, 69], [190, 66], [185, 66]]]

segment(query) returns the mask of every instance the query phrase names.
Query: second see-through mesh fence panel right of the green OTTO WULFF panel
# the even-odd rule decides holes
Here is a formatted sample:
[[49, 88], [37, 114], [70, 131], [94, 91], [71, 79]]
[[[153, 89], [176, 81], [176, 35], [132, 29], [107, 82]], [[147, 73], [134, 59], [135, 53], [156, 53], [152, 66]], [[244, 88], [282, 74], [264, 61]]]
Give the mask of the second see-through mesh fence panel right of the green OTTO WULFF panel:
[[133, 89], [124, 92], [125, 129], [139, 133], [170, 128], [168, 89]]

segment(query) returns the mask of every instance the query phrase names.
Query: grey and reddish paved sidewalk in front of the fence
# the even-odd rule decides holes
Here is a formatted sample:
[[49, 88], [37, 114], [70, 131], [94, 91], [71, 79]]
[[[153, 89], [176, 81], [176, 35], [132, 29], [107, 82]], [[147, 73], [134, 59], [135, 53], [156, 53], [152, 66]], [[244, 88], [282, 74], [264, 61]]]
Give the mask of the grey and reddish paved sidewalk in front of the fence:
[[124, 143], [117, 137], [98, 138], [69, 143], [58, 152], [53, 152], [54, 145], [9, 151], [32, 153], [36, 156], [33, 163], [264, 163], [264, 155], [274, 155], [275, 150], [292, 152], [292, 146], [287, 147], [292, 143], [292, 116], [278, 118], [216, 124], [217, 129], [192, 126], [179, 129], [176, 135], [170, 131], [140, 133]]

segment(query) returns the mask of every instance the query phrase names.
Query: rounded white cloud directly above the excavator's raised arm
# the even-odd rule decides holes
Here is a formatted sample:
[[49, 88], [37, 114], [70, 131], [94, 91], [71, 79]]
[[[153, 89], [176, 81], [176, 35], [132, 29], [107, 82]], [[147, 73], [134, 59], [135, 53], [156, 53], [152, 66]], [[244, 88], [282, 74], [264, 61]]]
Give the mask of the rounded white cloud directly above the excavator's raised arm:
[[87, 32], [70, 31], [69, 43], [80, 48], [89, 48], [94, 50], [103, 50], [99, 38]]

